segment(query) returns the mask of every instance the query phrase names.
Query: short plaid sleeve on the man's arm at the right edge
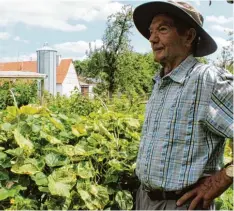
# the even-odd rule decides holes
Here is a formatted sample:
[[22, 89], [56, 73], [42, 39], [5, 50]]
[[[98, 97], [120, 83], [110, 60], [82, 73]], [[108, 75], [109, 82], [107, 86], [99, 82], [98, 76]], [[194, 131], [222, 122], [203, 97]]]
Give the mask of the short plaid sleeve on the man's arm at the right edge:
[[206, 124], [215, 134], [233, 138], [233, 75], [228, 71], [215, 74]]

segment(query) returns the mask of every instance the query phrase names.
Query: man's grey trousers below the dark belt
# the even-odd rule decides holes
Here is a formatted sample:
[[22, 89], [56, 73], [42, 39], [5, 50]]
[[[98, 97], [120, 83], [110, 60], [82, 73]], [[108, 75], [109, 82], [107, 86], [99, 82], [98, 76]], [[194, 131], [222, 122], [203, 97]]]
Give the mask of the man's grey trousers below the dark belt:
[[[141, 185], [136, 194], [136, 210], [188, 210], [191, 201], [186, 202], [180, 207], [176, 206], [176, 200], [157, 200], [151, 199], [148, 192], [143, 190]], [[198, 205], [196, 210], [204, 210], [202, 205]], [[214, 203], [209, 210], [215, 210]]]

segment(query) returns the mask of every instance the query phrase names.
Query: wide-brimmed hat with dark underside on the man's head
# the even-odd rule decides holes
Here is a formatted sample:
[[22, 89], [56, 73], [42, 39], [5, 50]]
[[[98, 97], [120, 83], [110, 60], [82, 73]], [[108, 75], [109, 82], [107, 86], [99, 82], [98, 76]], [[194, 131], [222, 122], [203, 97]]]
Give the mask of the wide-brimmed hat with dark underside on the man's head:
[[178, 17], [196, 29], [199, 37], [194, 56], [206, 56], [217, 50], [217, 44], [202, 27], [204, 20], [202, 15], [186, 2], [154, 1], [138, 6], [134, 10], [133, 20], [138, 31], [146, 39], [150, 37], [149, 26], [154, 16], [163, 13]]

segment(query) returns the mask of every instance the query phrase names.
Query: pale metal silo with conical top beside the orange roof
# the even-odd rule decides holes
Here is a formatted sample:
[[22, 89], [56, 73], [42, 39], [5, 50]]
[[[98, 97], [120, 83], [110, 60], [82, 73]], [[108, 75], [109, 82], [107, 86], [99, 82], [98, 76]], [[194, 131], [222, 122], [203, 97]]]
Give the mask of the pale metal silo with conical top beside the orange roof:
[[57, 51], [50, 48], [48, 43], [37, 50], [37, 72], [48, 76], [45, 89], [52, 95], [56, 95], [56, 55]]

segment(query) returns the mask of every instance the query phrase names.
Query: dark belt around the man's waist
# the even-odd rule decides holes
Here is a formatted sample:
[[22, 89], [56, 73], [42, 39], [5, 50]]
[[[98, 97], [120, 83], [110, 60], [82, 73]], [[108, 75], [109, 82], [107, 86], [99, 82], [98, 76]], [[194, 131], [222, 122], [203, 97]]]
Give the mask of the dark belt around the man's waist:
[[149, 190], [145, 185], [142, 184], [142, 190], [147, 193], [152, 201], [155, 200], [178, 200], [187, 191], [191, 190], [194, 186], [189, 186], [183, 190], [179, 191], [164, 191], [160, 189]]

